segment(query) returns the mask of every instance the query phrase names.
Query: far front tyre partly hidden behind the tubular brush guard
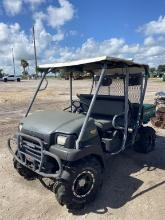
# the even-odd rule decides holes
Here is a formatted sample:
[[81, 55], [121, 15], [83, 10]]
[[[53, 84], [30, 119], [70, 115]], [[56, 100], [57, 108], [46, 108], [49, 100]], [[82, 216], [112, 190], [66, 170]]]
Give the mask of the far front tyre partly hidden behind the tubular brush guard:
[[37, 175], [27, 167], [20, 164], [15, 158], [13, 159], [13, 165], [19, 175], [23, 176], [26, 180], [36, 179]]

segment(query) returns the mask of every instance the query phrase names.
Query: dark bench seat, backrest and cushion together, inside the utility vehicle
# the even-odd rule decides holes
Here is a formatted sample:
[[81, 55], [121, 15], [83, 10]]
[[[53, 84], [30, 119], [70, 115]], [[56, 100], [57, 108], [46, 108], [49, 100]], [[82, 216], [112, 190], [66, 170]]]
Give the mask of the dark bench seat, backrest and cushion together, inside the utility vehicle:
[[[79, 94], [77, 97], [80, 101], [89, 105], [93, 95]], [[113, 117], [124, 112], [124, 106], [124, 96], [98, 95], [91, 117], [95, 119], [96, 126], [104, 132], [113, 127]], [[83, 109], [85, 109], [85, 111], [88, 110], [85, 104]]]

